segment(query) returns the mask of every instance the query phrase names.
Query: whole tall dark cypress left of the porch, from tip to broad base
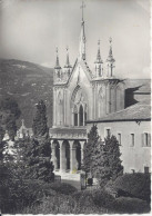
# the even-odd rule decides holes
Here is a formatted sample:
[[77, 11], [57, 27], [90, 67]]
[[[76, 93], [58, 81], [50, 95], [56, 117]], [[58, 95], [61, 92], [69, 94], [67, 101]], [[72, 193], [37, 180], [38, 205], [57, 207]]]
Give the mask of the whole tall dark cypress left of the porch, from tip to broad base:
[[30, 178], [51, 181], [53, 179], [53, 165], [51, 161], [51, 145], [49, 138], [49, 128], [47, 125], [47, 108], [43, 100], [37, 105], [37, 112], [33, 119], [33, 135], [27, 158]]

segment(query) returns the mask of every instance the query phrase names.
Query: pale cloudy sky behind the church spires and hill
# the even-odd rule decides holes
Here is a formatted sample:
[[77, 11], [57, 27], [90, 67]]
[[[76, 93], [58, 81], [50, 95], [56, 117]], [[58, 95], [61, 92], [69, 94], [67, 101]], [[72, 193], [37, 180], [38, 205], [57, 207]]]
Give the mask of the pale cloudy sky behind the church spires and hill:
[[[0, 0], [0, 58], [61, 67], [79, 53], [81, 0]], [[150, 78], [150, 1], [84, 0], [87, 61], [94, 69], [98, 40], [104, 62], [112, 37], [115, 76]]]

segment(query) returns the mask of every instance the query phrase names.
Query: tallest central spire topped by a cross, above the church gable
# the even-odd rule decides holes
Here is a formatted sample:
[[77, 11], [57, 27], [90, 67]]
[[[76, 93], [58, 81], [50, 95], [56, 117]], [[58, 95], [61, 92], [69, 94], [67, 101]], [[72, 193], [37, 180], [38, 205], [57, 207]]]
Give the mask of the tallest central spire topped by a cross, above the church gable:
[[82, 1], [82, 21], [81, 21], [81, 33], [80, 33], [80, 47], [79, 47], [79, 57], [80, 59], [85, 59], [85, 33], [84, 33], [84, 19], [83, 19], [83, 9], [85, 8], [84, 2]]

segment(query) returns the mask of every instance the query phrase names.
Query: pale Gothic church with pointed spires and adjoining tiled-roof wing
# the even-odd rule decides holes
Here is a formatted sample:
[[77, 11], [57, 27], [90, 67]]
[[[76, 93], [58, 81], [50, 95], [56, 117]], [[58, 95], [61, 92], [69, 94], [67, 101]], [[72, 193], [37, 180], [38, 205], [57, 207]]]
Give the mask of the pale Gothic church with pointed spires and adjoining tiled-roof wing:
[[50, 128], [52, 161], [57, 171], [81, 170], [83, 147], [93, 124], [98, 125], [102, 140], [108, 134], [116, 136], [124, 173], [150, 171], [150, 87], [116, 78], [111, 38], [109, 42], [104, 67], [99, 41], [94, 70], [90, 70], [82, 12], [79, 55], [74, 66], [70, 65], [67, 48], [67, 61], [61, 68], [57, 49], [53, 127]]

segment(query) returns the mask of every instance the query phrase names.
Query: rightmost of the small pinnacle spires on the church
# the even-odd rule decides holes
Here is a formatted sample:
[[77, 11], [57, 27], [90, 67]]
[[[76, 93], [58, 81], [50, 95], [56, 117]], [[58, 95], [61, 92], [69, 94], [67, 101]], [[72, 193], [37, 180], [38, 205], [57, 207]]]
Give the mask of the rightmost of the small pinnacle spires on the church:
[[110, 38], [109, 41], [110, 41], [110, 50], [109, 50], [109, 56], [108, 56], [108, 59], [107, 59], [108, 76], [113, 77], [113, 68], [115, 67], [114, 66], [115, 59], [113, 58], [113, 55], [112, 55], [112, 38]]

